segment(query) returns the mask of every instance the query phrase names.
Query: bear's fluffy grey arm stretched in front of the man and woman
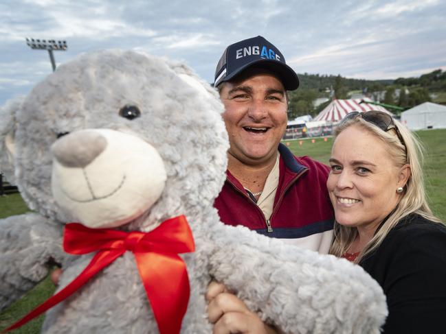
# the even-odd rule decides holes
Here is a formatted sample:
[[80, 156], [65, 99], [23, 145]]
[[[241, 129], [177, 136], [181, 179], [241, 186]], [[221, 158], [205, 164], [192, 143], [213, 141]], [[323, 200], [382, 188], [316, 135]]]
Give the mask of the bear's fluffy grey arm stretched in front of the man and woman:
[[386, 297], [358, 265], [241, 226], [224, 230], [210, 274], [265, 322], [285, 333], [379, 333]]

